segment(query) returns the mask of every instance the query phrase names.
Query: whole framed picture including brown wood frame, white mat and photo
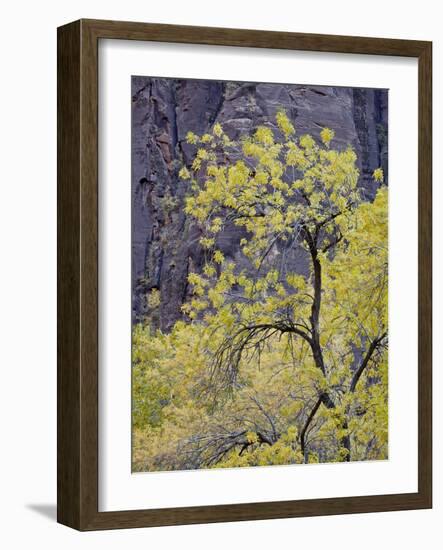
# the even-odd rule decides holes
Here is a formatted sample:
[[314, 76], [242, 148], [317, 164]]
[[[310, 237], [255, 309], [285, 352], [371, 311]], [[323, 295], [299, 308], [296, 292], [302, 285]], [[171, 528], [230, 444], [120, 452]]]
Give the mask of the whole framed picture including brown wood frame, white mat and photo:
[[431, 507], [431, 52], [59, 28], [59, 522]]

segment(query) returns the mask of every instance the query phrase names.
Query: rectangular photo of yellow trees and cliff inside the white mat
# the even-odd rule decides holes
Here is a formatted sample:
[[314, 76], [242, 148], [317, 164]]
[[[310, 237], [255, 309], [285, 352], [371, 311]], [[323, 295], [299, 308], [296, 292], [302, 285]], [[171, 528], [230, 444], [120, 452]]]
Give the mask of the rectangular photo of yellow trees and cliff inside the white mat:
[[129, 100], [132, 471], [387, 460], [388, 90]]

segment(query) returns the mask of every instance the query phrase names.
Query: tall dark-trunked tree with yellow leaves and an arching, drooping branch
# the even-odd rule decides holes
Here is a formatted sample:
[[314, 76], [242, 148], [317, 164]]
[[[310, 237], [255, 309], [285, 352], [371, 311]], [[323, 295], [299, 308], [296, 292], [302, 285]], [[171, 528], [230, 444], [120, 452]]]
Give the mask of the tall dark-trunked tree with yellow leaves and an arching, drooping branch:
[[[241, 141], [220, 125], [212, 134], [188, 134], [198, 148], [190, 170], [181, 171], [192, 189], [186, 212], [202, 230], [206, 263], [189, 276], [195, 297], [184, 309], [222, 335], [211, 356], [214, 392], [235, 390], [242, 363], [254, 359], [260, 369], [276, 340], [306, 344], [316, 392], [297, 430], [301, 452], [308, 461], [312, 424], [323, 408], [335, 427], [335, 458], [349, 461], [353, 421], [367, 414], [365, 392], [380, 383], [377, 367], [386, 362], [387, 192], [380, 189], [373, 204], [362, 201], [356, 154], [331, 148], [332, 130], [324, 128], [317, 142], [297, 137], [284, 112], [276, 122]], [[382, 183], [381, 169], [374, 178]], [[245, 269], [217, 247], [227, 223], [244, 229]], [[293, 270], [300, 248], [306, 273]], [[385, 394], [379, 397], [386, 408]], [[386, 434], [376, 439], [370, 446], [383, 445]]]

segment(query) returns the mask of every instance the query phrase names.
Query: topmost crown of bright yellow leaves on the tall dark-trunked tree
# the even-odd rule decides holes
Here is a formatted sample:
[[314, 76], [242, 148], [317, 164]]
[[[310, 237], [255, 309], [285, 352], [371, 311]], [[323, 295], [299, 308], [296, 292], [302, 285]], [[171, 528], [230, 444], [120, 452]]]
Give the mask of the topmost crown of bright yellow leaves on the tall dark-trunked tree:
[[[276, 122], [286, 138], [294, 133], [283, 111], [277, 114]], [[214, 126], [214, 136], [225, 136], [222, 132], [221, 126]], [[205, 230], [215, 234], [221, 231], [222, 223], [217, 220], [208, 228], [207, 219], [221, 207], [234, 211], [237, 214], [234, 223], [256, 237], [257, 243], [248, 244], [243, 251], [254, 261], [253, 256], [266, 249], [266, 241], [273, 233], [287, 233], [282, 234], [282, 241], [290, 238], [291, 225], [298, 218], [309, 217], [313, 223], [316, 219], [323, 221], [323, 211], [346, 208], [347, 200], [358, 202], [355, 153], [350, 148], [342, 152], [330, 150], [328, 144], [333, 134], [329, 128], [321, 132], [322, 143], [327, 148], [317, 145], [308, 134], [298, 140], [276, 142], [272, 129], [267, 126], [260, 126], [252, 137], [239, 142], [228, 144], [222, 140], [220, 145], [225, 148], [241, 147], [245, 157], [253, 159], [252, 163], [246, 159], [220, 163], [220, 156], [211, 156], [213, 153], [200, 148], [192, 168], [197, 173], [204, 162], [208, 179], [202, 185], [193, 186], [194, 197], [187, 199], [186, 212], [205, 224]], [[208, 141], [208, 138], [198, 139], [201, 143]], [[287, 171], [292, 168], [301, 172], [301, 177], [288, 184]], [[197, 178], [201, 178], [201, 173]], [[269, 184], [272, 191], [265, 187]], [[304, 197], [296, 203], [296, 208], [290, 203], [292, 195]], [[259, 217], [262, 212], [266, 212], [266, 228]]]

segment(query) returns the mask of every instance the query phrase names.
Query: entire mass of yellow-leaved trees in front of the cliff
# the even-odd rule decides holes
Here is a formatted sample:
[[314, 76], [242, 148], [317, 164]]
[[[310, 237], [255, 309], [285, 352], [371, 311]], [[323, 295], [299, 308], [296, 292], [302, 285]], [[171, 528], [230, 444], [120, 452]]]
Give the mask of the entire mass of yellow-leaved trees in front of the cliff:
[[[204, 262], [168, 334], [134, 327], [135, 470], [387, 458], [387, 187], [357, 156], [275, 125], [187, 135]], [[235, 254], [220, 246], [226, 227]]]

